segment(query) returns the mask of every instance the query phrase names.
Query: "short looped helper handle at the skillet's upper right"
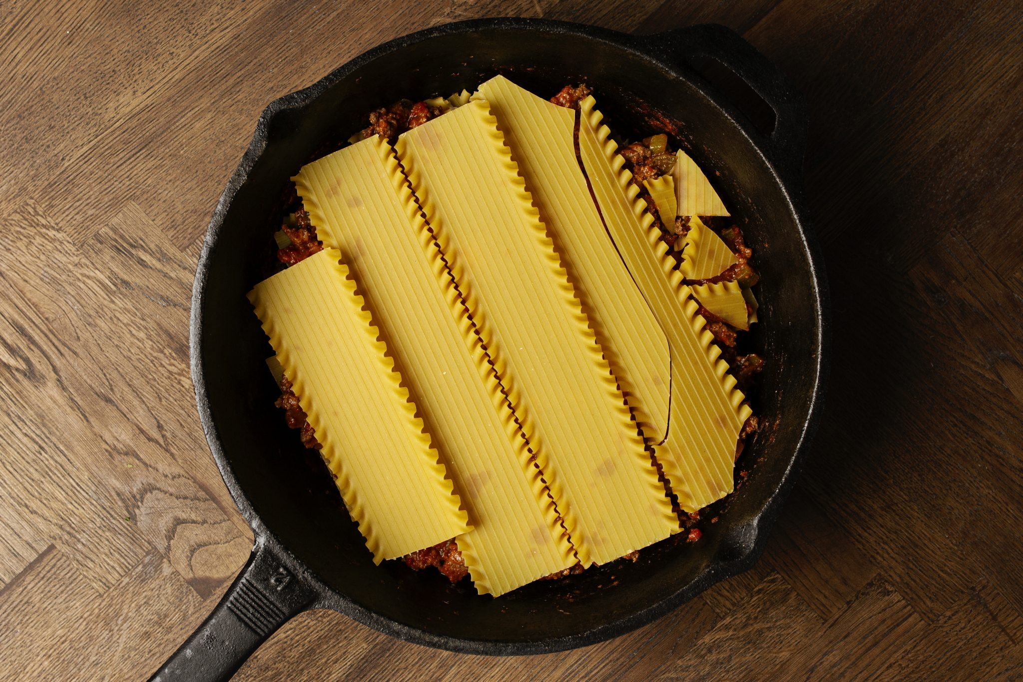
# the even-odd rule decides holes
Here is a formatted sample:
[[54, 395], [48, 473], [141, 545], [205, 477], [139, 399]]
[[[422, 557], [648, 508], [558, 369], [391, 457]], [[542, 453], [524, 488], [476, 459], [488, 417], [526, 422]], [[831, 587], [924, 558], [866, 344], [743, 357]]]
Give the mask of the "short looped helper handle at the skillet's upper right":
[[670, 61], [694, 71], [701, 71], [699, 64], [707, 58], [717, 61], [759, 96], [774, 112], [773, 130], [763, 133], [746, 116], [732, 118], [784, 179], [801, 186], [809, 122], [806, 99], [777, 66], [738, 33], [717, 24], [666, 31], [648, 39]]

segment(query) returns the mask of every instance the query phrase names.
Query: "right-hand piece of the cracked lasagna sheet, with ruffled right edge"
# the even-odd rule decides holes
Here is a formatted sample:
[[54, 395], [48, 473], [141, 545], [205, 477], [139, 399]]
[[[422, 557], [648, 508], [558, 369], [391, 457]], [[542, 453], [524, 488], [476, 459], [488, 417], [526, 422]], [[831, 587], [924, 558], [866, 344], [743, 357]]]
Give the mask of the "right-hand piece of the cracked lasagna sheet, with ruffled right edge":
[[725, 373], [727, 363], [711, 343], [690, 287], [672, 269], [661, 231], [594, 106], [592, 97], [581, 103], [579, 151], [605, 224], [668, 334], [671, 412], [668, 439], [655, 452], [682, 508], [695, 511], [731, 492], [739, 431], [750, 408]]

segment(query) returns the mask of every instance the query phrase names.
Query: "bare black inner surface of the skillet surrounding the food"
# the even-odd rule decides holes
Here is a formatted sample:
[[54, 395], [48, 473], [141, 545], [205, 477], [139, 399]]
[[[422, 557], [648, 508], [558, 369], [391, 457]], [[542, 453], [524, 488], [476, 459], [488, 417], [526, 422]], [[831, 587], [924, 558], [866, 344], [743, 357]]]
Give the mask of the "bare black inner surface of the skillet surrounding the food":
[[[673, 144], [719, 175], [762, 278], [754, 345], [766, 359], [756, 411], [766, 427], [740, 466], [748, 480], [695, 545], [669, 539], [636, 562], [615, 562], [500, 598], [451, 586], [437, 572], [375, 566], [318, 456], [274, 406], [271, 354], [246, 292], [266, 274], [278, 197], [324, 143], [365, 125], [396, 99], [473, 90], [503, 73], [550, 96], [587, 82], [620, 137], [677, 126]], [[660, 122], [660, 123], [659, 123]], [[742, 557], [749, 529], [773, 496], [807, 418], [816, 383], [818, 311], [806, 245], [779, 180], [754, 146], [697, 86], [621, 45], [582, 35], [488, 30], [439, 35], [377, 55], [269, 125], [265, 150], [238, 189], [212, 243], [201, 322], [214, 448], [265, 526], [329, 588], [395, 623], [453, 640], [539, 642], [642, 619], [679, 592], [715, 581], [712, 564]], [[625, 626], [627, 627], [627, 626]], [[609, 633], [614, 634], [614, 633]]]

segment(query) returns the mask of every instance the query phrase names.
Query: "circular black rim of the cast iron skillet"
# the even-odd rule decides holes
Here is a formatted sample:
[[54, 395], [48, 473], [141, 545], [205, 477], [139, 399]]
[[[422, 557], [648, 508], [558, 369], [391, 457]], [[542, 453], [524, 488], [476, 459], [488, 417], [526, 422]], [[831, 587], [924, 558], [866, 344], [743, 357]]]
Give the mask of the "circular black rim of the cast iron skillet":
[[[738, 36], [729, 29], [714, 25], [701, 27], [690, 27], [681, 29], [680, 32], [699, 29], [712, 29], [715, 31], [724, 30]], [[747, 139], [749, 144], [757, 151], [769, 169], [772, 180], [782, 189], [783, 196], [787, 201], [787, 209], [794, 218], [798, 231], [799, 241], [807, 254], [808, 270], [813, 283], [813, 314], [816, 321], [816, 338], [814, 339], [817, 353], [812, 361], [812, 377], [814, 385], [810, 393], [810, 401], [807, 409], [807, 417], [804, 419], [802, 429], [799, 435], [796, 447], [793, 449], [789, 465], [782, 473], [773, 493], [760, 511], [747, 524], [736, 527], [730, 535], [737, 536], [730, 544], [730, 549], [736, 550], [738, 545], [738, 555], [733, 554], [730, 559], [720, 558], [718, 555], [711, 560], [708, 566], [696, 579], [673, 593], [665, 595], [644, 608], [641, 608], [629, 616], [615, 620], [610, 623], [591, 628], [589, 630], [566, 635], [562, 637], [551, 637], [542, 640], [476, 640], [438, 635], [435, 633], [413, 628], [389, 618], [380, 616], [372, 610], [357, 604], [345, 594], [335, 590], [315, 575], [306, 564], [291, 550], [276, 534], [269, 530], [263, 522], [260, 515], [255, 511], [248, 496], [234, 476], [230, 462], [227, 459], [223, 445], [220, 441], [216, 423], [210, 408], [207, 395], [205, 378], [205, 358], [203, 354], [203, 313], [205, 311], [204, 292], [209, 279], [209, 269], [212, 255], [218, 246], [220, 230], [223, 227], [225, 217], [233, 202], [239, 188], [246, 183], [249, 173], [259, 160], [268, 144], [269, 131], [275, 117], [280, 112], [301, 108], [309, 101], [319, 97], [335, 83], [348, 77], [352, 72], [360, 69], [364, 64], [391, 52], [401, 50], [408, 45], [425, 40], [445, 36], [479, 32], [487, 30], [507, 31], [526, 30], [545, 34], [571, 34], [580, 38], [598, 43], [610, 44], [616, 49], [623, 49], [631, 52], [643, 60], [655, 62], [661, 69], [676, 74], [679, 78], [690, 81], [703, 94], [715, 104]], [[802, 174], [788, 174], [780, 168], [777, 158], [771, 158], [772, 154], [764, 151], [763, 142], [758, 142], [755, 134], [751, 133], [750, 126], [743, 115], [726, 99], [716, 93], [712, 86], [706, 83], [696, 72], [694, 72], [682, 60], [672, 59], [671, 55], [658, 43], [666, 36], [675, 32], [665, 32], [650, 36], [631, 36], [628, 34], [611, 31], [598, 27], [569, 21], [557, 21], [542, 18], [527, 17], [495, 17], [469, 19], [445, 24], [430, 29], [417, 31], [405, 36], [387, 41], [376, 47], [367, 50], [348, 62], [331, 71], [329, 74], [315, 82], [314, 84], [283, 95], [272, 102], [263, 110], [257, 122], [256, 131], [247, 147], [241, 161], [235, 168], [227, 185], [217, 201], [216, 208], [207, 228], [203, 248], [199, 254], [196, 266], [195, 279], [192, 288], [191, 311], [189, 317], [189, 350], [190, 369], [192, 383], [195, 392], [196, 408], [203, 430], [206, 435], [210, 452], [213, 455], [217, 468], [220, 470], [224, 484], [227, 486], [231, 499], [234, 501], [242, 517], [249, 522], [254, 533], [253, 556], [264, 549], [269, 549], [284, 563], [293, 574], [303, 581], [316, 594], [315, 598], [305, 609], [330, 608], [349, 618], [367, 625], [374, 630], [397, 637], [403, 641], [432, 646], [462, 653], [476, 654], [535, 654], [561, 651], [588, 644], [594, 644], [606, 639], [625, 634], [635, 628], [651, 623], [666, 615], [681, 603], [703, 592], [710, 586], [722, 580], [736, 576], [749, 570], [763, 553], [768, 536], [768, 530], [773, 525], [781, 506], [791, 491], [797, 474], [806, 456], [809, 443], [816, 430], [822, 411], [824, 394], [827, 384], [829, 370], [829, 352], [831, 335], [831, 315], [828, 297], [827, 277], [824, 272], [822, 258], [820, 249], [815, 240], [815, 235], [808, 229], [805, 218], [805, 211], [802, 206]], [[795, 89], [792, 89], [795, 93]], [[798, 93], [796, 93], [798, 94]], [[802, 150], [799, 150], [800, 156]], [[797, 160], [801, 162], [801, 157]], [[789, 177], [786, 177], [788, 175]], [[727, 543], [725, 543], [727, 544]]]

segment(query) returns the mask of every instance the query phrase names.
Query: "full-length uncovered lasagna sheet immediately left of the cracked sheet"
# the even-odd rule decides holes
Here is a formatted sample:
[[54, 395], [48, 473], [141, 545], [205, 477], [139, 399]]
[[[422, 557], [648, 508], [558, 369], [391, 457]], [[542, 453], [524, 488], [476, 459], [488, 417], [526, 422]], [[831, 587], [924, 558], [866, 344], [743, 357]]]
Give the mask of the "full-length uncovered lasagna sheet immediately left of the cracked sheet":
[[580, 561], [677, 531], [487, 102], [404, 133], [397, 151]]

